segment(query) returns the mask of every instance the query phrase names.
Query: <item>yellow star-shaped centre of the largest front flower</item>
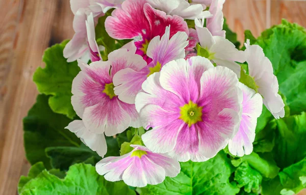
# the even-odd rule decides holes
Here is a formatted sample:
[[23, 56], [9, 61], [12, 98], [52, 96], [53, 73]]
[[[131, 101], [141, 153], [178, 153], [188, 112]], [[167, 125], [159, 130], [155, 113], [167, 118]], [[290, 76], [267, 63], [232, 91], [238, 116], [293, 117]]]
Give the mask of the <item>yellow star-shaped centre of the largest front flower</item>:
[[189, 103], [180, 107], [180, 119], [182, 119], [190, 127], [191, 125], [202, 121], [202, 108], [202, 106], [198, 106], [196, 103], [193, 103], [190, 100]]

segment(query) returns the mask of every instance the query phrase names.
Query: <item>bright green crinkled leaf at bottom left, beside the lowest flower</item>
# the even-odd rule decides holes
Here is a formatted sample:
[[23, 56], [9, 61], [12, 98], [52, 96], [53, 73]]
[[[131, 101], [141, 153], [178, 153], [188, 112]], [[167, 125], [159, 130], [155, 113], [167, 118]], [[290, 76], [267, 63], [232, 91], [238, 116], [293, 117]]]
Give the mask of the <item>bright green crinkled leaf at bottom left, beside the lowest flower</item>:
[[132, 195], [135, 191], [122, 181], [109, 182], [99, 176], [94, 166], [90, 164], [74, 164], [70, 166], [64, 179], [60, 179], [46, 170], [35, 179], [25, 184], [21, 195], [80, 195], [80, 194], [110, 194]]

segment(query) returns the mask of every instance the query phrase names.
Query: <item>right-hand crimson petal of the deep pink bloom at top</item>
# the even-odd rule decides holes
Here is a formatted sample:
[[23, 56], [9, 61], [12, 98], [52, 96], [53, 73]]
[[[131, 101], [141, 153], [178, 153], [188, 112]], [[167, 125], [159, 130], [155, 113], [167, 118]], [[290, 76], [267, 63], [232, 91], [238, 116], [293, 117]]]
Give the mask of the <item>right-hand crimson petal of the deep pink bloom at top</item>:
[[[165, 12], [152, 8], [149, 4], [145, 4], [143, 7], [145, 16], [150, 24], [150, 37], [163, 36], [166, 26], [170, 28], [170, 38], [177, 32], [185, 32], [188, 34], [188, 25], [184, 19], [180, 16], [166, 15]], [[186, 39], [187, 40], [187, 39]]]

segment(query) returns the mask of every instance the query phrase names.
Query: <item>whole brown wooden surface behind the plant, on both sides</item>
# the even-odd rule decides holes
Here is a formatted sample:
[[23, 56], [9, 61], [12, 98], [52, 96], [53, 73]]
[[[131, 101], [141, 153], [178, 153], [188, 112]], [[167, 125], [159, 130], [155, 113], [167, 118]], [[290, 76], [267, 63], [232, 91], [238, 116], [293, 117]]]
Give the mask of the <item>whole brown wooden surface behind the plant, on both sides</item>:
[[[257, 37], [282, 18], [306, 27], [306, 1], [226, 0], [224, 15], [243, 41], [244, 30]], [[33, 72], [44, 49], [73, 36], [73, 14], [69, 0], [1, 0], [0, 18], [0, 195], [11, 195], [30, 168], [22, 118], [38, 94]]]

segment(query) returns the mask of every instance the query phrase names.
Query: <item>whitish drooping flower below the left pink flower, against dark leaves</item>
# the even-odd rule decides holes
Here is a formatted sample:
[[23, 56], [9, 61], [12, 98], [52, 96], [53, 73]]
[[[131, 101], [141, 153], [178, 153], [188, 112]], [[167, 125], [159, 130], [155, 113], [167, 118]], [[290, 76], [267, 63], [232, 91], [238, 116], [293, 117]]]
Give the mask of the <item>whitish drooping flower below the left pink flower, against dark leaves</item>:
[[104, 157], [107, 152], [104, 133], [95, 134], [90, 132], [82, 120], [74, 120], [65, 128], [75, 133], [92, 151], [96, 151], [99, 156]]

